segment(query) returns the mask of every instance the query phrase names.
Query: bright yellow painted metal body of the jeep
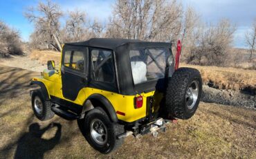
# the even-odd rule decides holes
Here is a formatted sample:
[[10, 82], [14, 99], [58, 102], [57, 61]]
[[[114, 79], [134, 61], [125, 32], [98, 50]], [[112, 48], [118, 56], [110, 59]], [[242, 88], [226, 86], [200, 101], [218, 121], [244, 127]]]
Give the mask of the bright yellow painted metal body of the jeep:
[[45, 70], [42, 74], [43, 74], [42, 77], [33, 78], [33, 80], [43, 82], [47, 88], [49, 95], [53, 95], [62, 100], [67, 100], [69, 102], [73, 102], [81, 106], [84, 105], [84, 102], [90, 95], [93, 95], [95, 93], [103, 95], [104, 97], [107, 98], [107, 100], [109, 100], [109, 102], [111, 102], [113, 109], [115, 109], [116, 112], [120, 111], [122, 113], [125, 113], [125, 115], [117, 114], [118, 120], [122, 120], [125, 122], [134, 122], [136, 120], [146, 117], [147, 115], [146, 104], [147, 104], [147, 97], [149, 96], [154, 96], [153, 111], [158, 111], [160, 101], [163, 97], [161, 93], [157, 93], [155, 91], [152, 91], [149, 93], [142, 93], [140, 95], [143, 96], [143, 106], [140, 109], [135, 109], [134, 97], [138, 95], [120, 95], [118, 93], [103, 91], [97, 88], [85, 87], [80, 90], [76, 99], [74, 101], [71, 101], [63, 97], [62, 76], [61, 76], [60, 70], [55, 71], [55, 73], [51, 73], [51, 75], [50, 73], [48, 73], [47, 70]]

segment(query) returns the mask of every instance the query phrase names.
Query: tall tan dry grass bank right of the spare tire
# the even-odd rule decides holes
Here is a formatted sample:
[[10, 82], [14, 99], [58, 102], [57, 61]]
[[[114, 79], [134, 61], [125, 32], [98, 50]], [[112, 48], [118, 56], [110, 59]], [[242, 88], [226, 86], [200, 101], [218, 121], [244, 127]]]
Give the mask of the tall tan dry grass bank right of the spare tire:
[[187, 64], [181, 64], [181, 66], [198, 69], [201, 72], [204, 84], [213, 82], [214, 86], [221, 89], [242, 90], [244, 88], [251, 88], [256, 90], [256, 71], [217, 66]]

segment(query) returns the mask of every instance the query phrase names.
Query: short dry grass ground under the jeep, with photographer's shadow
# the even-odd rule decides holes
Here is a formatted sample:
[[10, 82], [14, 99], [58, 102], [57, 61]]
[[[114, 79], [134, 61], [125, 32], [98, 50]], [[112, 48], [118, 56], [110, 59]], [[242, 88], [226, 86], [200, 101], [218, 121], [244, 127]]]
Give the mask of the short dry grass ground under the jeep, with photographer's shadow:
[[[35, 118], [26, 87], [34, 75], [0, 66], [0, 158], [256, 158], [256, 111], [203, 102], [192, 119], [170, 124], [157, 138], [129, 137], [104, 156], [84, 140], [76, 121]], [[35, 124], [40, 130], [29, 131]]]

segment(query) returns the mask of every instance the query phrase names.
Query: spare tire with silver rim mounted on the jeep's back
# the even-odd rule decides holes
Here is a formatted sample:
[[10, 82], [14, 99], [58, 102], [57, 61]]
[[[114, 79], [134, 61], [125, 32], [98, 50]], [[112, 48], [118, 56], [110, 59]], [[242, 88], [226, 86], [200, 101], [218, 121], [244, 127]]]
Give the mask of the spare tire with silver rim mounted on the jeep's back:
[[202, 93], [202, 79], [194, 68], [179, 68], [168, 81], [165, 106], [173, 118], [188, 120], [194, 115]]

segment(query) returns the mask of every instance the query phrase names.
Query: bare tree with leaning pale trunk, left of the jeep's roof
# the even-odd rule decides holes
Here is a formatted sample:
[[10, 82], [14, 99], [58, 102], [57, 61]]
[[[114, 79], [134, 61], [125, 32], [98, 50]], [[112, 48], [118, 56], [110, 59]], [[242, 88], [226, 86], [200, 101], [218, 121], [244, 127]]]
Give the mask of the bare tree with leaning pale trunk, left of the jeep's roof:
[[60, 45], [60, 17], [62, 17], [62, 11], [57, 3], [53, 3], [51, 0], [47, 0], [46, 3], [39, 2], [36, 8], [28, 8], [24, 15], [35, 25], [35, 32], [31, 37], [33, 41], [41, 41], [39, 44], [44, 42], [47, 48], [53, 46], [59, 51], [62, 49]]

